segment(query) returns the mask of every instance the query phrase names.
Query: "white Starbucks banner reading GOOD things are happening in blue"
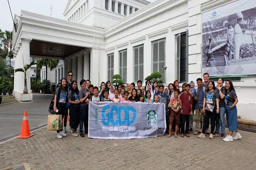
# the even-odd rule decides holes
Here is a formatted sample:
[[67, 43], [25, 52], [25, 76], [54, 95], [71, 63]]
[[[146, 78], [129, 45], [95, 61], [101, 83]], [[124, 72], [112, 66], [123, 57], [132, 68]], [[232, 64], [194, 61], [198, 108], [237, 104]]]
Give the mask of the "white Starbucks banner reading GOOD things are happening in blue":
[[166, 131], [164, 104], [90, 102], [88, 137], [136, 139], [161, 136]]

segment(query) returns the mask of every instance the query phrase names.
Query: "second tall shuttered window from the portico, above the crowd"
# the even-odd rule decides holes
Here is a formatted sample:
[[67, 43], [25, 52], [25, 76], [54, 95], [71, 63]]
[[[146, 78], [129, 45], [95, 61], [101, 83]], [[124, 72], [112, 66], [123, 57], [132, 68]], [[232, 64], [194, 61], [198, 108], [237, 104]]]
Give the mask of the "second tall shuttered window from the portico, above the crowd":
[[119, 51], [119, 74], [124, 84], [127, 83], [127, 49]]

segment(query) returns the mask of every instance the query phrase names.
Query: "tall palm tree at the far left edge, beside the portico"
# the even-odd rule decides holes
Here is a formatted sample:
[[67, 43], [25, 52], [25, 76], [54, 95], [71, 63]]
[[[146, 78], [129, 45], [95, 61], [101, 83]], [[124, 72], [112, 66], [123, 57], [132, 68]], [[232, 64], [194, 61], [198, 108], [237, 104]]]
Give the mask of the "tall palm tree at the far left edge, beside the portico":
[[2, 58], [9, 58], [9, 63], [11, 67], [11, 59], [13, 59], [13, 48], [12, 48], [12, 31], [2, 32], [0, 30], [0, 38], [3, 44], [3, 49], [0, 51], [0, 56]]

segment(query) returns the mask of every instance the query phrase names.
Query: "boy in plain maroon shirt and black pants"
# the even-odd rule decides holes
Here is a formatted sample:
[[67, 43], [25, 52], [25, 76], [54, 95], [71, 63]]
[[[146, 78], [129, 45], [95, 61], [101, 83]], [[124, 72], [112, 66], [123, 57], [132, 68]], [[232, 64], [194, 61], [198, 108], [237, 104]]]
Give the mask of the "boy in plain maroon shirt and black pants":
[[189, 121], [192, 112], [192, 94], [189, 93], [190, 84], [185, 85], [185, 91], [180, 95], [181, 105], [181, 132], [180, 137], [184, 137], [184, 127], [186, 122], [185, 136], [189, 136]]

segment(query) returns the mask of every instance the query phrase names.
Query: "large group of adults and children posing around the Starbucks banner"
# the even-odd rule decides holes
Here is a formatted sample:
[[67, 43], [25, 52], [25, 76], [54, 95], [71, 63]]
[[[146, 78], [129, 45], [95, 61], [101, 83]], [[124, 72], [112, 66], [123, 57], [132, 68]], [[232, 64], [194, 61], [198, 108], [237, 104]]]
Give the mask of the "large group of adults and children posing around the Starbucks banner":
[[[209, 81], [209, 74], [204, 74], [203, 79], [196, 79], [183, 83], [182, 88], [175, 80], [168, 87], [158, 85], [155, 81], [147, 80], [146, 85], [139, 80], [137, 88], [135, 83], [127, 83], [126, 86], [111, 85], [111, 82], [102, 82], [100, 88], [91, 85], [89, 79], [82, 79], [79, 82], [81, 90], [78, 89], [76, 80], [73, 80], [73, 72], [68, 72], [68, 80], [62, 78], [56, 89], [54, 98], [54, 111], [64, 118], [63, 129], [57, 130], [57, 137], [67, 136], [67, 115], [69, 108], [70, 132], [72, 136], [84, 137], [88, 133], [88, 105], [89, 102], [147, 102], [152, 104], [166, 105], [166, 132], [167, 137], [180, 133], [180, 137], [190, 137], [189, 132], [198, 135], [198, 138], [205, 138], [205, 133], [211, 122], [209, 138], [220, 136], [226, 142], [233, 139], [241, 139], [237, 123], [236, 104], [238, 98], [231, 81], [218, 78], [217, 85]], [[68, 105], [67, 105], [68, 103]], [[67, 107], [68, 106], [68, 107]], [[225, 137], [225, 113], [229, 134]], [[195, 114], [195, 130], [192, 129]], [[200, 121], [201, 120], [201, 121]], [[201, 127], [199, 123], [201, 122]], [[220, 133], [221, 126], [221, 133]], [[77, 129], [79, 127], [79, 133]], [[84, 133], [83, 133], [84, 127]], [[215, 128], [216, 127], [216, 128]], [[233, 136], [233, 132], [236, 134]]]

